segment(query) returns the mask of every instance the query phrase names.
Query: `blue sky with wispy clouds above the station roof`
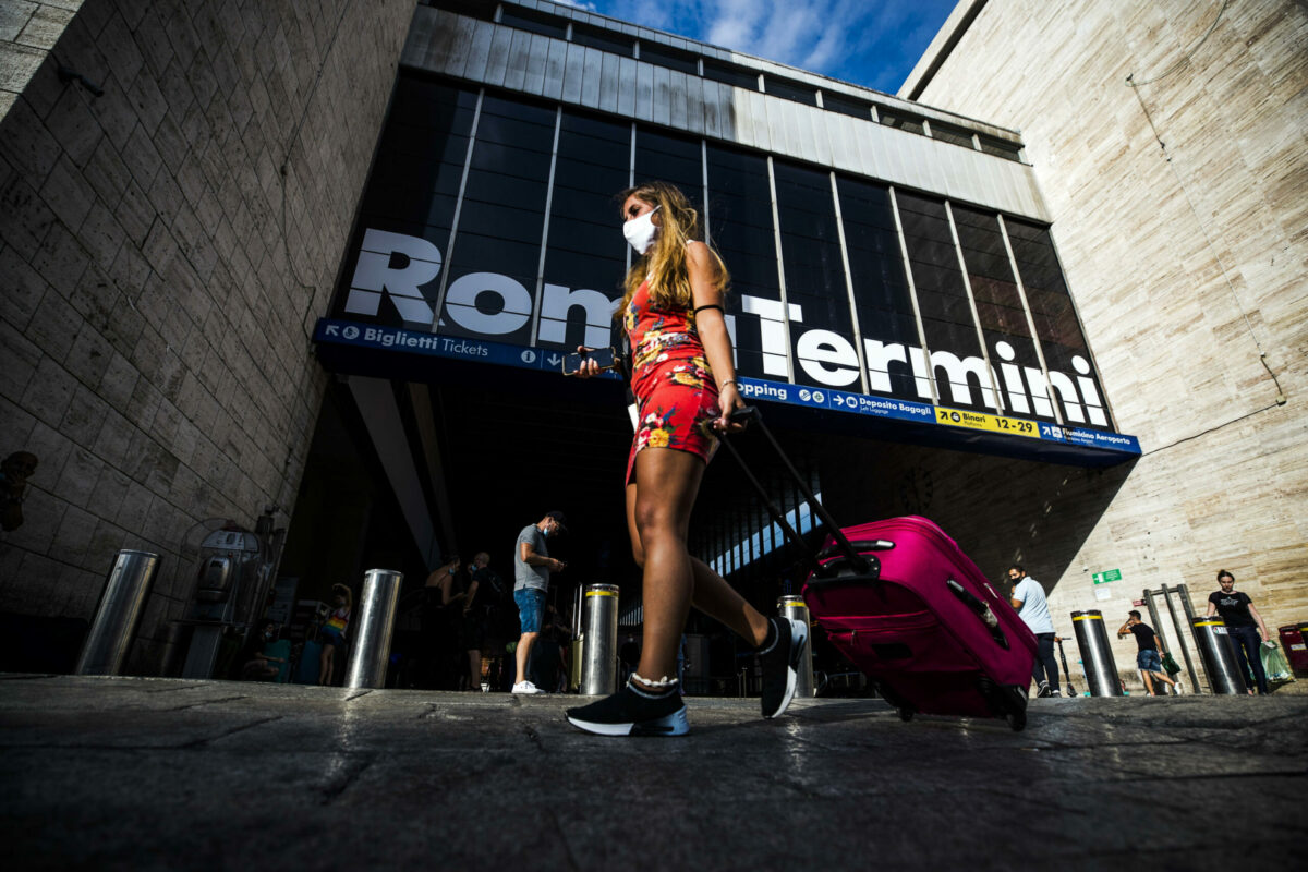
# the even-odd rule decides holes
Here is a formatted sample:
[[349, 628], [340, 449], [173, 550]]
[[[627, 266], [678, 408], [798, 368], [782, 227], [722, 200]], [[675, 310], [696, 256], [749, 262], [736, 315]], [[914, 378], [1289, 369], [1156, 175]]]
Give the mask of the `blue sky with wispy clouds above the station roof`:
[[556, 0], [893, 94], [956, 0]]

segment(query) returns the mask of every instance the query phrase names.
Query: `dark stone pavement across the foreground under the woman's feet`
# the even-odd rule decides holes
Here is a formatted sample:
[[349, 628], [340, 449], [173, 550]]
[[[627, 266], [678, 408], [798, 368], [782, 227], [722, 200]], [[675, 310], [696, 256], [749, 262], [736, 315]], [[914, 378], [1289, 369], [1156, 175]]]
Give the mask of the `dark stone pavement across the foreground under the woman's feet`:
[[1024, 732], [875, 699], [576, 697], [0, 676], [10, 869], [1160, 869], [1298, 864], [1308, 697], [1033, 699]]

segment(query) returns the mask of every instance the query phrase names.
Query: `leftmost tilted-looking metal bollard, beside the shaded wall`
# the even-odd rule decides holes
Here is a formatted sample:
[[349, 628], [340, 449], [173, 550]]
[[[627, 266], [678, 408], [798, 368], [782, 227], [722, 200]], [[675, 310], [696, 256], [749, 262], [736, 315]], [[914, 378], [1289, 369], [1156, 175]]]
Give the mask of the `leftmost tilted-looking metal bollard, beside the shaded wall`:
[[158, 554], [118, 552], [73, 675], [118, 675], [122, 671], [158, 567]]

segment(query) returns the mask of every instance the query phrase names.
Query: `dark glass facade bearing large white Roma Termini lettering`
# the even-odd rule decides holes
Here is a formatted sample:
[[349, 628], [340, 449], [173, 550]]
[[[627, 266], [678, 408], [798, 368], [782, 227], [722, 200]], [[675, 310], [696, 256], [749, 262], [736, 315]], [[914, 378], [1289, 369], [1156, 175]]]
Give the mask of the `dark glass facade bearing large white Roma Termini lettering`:
[[615, 195], [633, 179], [672, 182], [706, 216], [743, 377], [1112, 429], [1046, 227], [408, 71], [335, 315], [607, 345], [628, 263]]

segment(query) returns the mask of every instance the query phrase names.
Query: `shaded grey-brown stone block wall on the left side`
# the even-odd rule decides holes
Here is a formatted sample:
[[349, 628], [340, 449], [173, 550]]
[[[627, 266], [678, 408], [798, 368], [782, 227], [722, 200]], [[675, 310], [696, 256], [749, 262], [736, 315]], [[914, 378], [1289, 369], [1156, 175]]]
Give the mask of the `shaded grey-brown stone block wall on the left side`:
[[9, 105], [0, 456], [39, 467], [0, 611], [89, 617], [118, 549], [160, 552], [148, 672], [188, 531], [268, 503], [285, 523], [324, 379], [309, 336], [413, 7], [86, 0]]

